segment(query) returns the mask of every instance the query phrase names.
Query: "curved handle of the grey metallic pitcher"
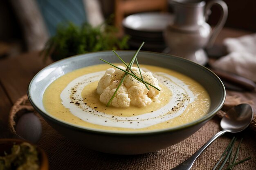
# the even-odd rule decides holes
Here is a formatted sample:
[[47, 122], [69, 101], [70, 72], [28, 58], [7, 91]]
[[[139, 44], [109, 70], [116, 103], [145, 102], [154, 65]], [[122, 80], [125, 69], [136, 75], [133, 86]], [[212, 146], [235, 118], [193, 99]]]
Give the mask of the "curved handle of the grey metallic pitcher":
[[218, 21], [218, 23], [216, 24], [216, 26], [214, 27], [209, 42], [206, 46], [206, 48], [210, 48], [211, 46], [213, 46], [213, 43], [216, 40], [217, 35], [220, 33], [220, 30], [223, 28], [226, 20], [227, 20], [227, 14], [228, 14], [228, 8], [227, 8], [227, 4], [222, 1], [222, 0], [212, 0], [210, 2], [207, 3], [206, 7], [205, 7], [205, 12], [204, 12], [204, 16], [207, 18], [209, 15], [209, 11], [211, 9], [211, 7], [213, 5], [219, 5], [222, 9], [222, 13], [220, 16], [220, 20]]

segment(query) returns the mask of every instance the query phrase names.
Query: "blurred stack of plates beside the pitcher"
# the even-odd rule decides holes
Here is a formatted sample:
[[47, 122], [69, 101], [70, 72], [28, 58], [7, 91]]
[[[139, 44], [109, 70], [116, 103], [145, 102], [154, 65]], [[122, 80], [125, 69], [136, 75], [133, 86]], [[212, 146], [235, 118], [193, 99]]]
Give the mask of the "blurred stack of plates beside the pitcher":
[[122, 24], [125, 34], [130, 36], [130, 49], [138, 49], [145, 42], [142, 50], [162, 52], [166, 48], [163, 32], [173, 22], [169, 13], [137, 13], [126, 17]]

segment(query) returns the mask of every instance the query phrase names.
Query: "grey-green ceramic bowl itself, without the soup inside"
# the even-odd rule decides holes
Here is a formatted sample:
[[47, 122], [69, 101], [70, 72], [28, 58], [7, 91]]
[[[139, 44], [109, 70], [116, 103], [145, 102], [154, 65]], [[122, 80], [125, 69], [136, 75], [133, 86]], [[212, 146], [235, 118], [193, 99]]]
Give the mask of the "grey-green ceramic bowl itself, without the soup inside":
[[[126, 62], [130, 61], [134, 53], [135, 51], [118, 51], [118, 54]], [[196, 121], [173, 128], [146, 131], [114, 131], [77, 126], [57, 119], [46, 112], [43, 106], [43, 94], [49, 84], [58, 77], [78, 68], [103, 64], [99, 58], [111, 63], [120, 62], [112, 51], [76, 55], [43, 68], [29, 84], [27, 91], [29, 100], [38, 113], [54, 129], [70, 140], [93, 150], [122, 155], [148, 153], [177, 144], [199, 130], [224, 104], [224, 85], [213, 72], [204, 66], [182, 57], [162, 53], [141, 51], [137, 57], [140, 64], [170, 68], [199, 82], [209, 93], [211, 102], [208, 113]]]

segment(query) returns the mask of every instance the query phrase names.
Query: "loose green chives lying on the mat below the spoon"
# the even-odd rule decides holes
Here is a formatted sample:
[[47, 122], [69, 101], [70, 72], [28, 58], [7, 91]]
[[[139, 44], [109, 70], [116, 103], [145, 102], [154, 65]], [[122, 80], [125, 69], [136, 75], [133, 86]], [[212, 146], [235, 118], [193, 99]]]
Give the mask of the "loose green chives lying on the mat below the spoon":
[[[221, 165], [219, 166], [218, 170], [222, 170], [225, 166], [225, 164], [227, 163], [228, 161], [228, 165], [227, 165], [227, 168], [225, 170], [232, 170], [234, 166], [236, 166], [237, 164], [239, 163], [243, 163], [244, 161], [247, 161], [249, 159], [252, 159], [252, 157], [247, 157], [243, 160], [240, 160], [240, 161], [237, 161], [236, 162], [236, 159], [238, 157], [238, 153], [239, 153], [239, 149], [240, 149], [240, 145], [242, 143], [242, 140], [243, 138], [240, 140], [237, 148], [236, 148], [236, 153], [235, 155], [233, 156], [232, 152], [233, 152], [233, 148], [234, 148], [234, 145], [235, 145], [235, 142], [236, 142], [236, 137], [233, 137], [231, 139], [231, 141], [229, 142], [227, 148], [225, 149], [225, 151], [222, 153], [221, 157], [220, 157], [220, 160], [215, 164], [215, 166], [213, 167], [212, 170], [217, 170], [220, 162], [222, 161], [222, 159], [225, 157], [225, 159], [222, 161]], [[232, 158], [233, 158], [233, 161], [232, 161]]]

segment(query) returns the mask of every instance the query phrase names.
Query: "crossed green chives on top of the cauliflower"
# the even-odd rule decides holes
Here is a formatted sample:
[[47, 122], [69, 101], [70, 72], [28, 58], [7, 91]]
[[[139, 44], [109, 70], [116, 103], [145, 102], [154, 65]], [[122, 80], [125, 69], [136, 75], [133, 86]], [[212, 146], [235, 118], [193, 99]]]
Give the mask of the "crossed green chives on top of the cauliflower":
[[[138, 55], [138, 53], [139, 53], [139, 51], [140, 51], [140, 49], [141, 49], [141, 47], [142, 47], [143, 45], [144, 45], [144, 42], [142, 42], [142, 44], [139, 46], [139, 49], [136, 51], [135, 55], [132, 57], [132, 59], [131, 59], [129, 65], [127, 65], [127, 64], [124, 62], [124, 60], [123, 60], [115, 51], [113, 51], [113, 52], [117, 55], [117, 57], [119, 57], [119, 59], [127, 66], [126, 70], [124, 70], [124, 69], [122, 69], [122, 68], [119, 68], [119, 67], [115, 66], [114, 64], [111, 64], [110, 62], [107, 62], [107, 61], [105, 61], [105, 60], [103, 60], [103, 59], [101, 59], [101, 58], [99, 59], [99, 60], [101, 60], [101, 61], [103, 61], [103, 62], [106, 62], [106, 63], [110, 64], [111, 66], [113, 66], [113, 67], [115, 67], [115, 68], [117, 68], [117, 69], [119, 69], [119, 70], [125, 72], [124, 77], [121, 79], [119, 85], [117, 86], [117, 89], [116, 89], [115, 93], [114, 93], [114, 94], [112, 95], [112, 97], [110, 98], [110, 100], [109, 100], [109, 102], [108, 102], [108, 104], [107, 104], [107, 107], [110, 105], [110, 103], [111, 103], [112, 100], [114, 99], [114, 97], [115, 97], [115, 95], [116, 95], [116, 93], [117, 93], [119, 87], [123, 84], [124, 79], [125, 79], [125, 77], [126, 77], [127, 75], [131, 75], [132, 77], [134, 77], [134, 78], [137, 79], [138, 81], [144, 83], [145, 86], [146, 86], [146, 88], [147, 88], [148, 90], [149, 90], [148, 85], [150, 85], [150, 86], [152, 86], [153, 88], [155, 88], [155, 89], [157, 89], [158, 91], [160, 91], [159, 88], [157, 88], [157, 87], [153, 86], [152, 84], [150, 84], [150, 83], [144, 81], [143, 76], [141, 75], [140, 69], [139, 69], [139, 73], [140, 73], [140, 75], [141, 75], [141, 78], [137, 77], [137, 76], [135, 75], [135, 73], [133, 73], [133, 71], [132, 71], [132, 69], [131, 69], [131, 67], [132, 67], [132, 65], [133, 65], [133, 63], [134, 63], [135, 61], [136, 61], [137, 66], [138, 66], [138, 68], [139, 68], [139, 63], [138, 63], [138, 61], [137, 61], [137, 55]], [[130, 70], [132, 73], [130, 73], [129, 70]], [[147, 84], [148, 84], [148, 85], [147, 85]]]

